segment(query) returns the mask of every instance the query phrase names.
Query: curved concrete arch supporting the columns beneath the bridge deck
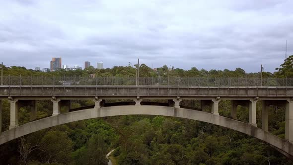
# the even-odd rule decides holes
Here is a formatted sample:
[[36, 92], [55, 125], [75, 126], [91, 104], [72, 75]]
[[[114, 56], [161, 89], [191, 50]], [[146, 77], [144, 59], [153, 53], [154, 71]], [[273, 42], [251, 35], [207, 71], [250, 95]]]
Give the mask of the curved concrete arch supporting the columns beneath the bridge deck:
[[268, 143], [285, 156], [289, 158], [293, 157], [292, 143], [247, 123], [202, 111], [153, 105], [125, 105], [101, 107], [98, 109], [91, 108], [47, 117], [0, 133], [0, 145], [21, 136], [61, 124], [91, 118], [120, 115], [159, 115], [211, 123], [253, 136]]

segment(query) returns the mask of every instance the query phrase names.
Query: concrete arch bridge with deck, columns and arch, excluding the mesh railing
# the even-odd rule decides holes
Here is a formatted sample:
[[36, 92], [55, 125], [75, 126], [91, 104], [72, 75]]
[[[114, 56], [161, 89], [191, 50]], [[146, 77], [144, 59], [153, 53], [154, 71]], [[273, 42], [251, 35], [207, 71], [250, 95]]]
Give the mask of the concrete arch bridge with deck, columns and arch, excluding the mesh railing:
[[[45, 128], [78, 120], [117, 115], [161, 115], [192, 119], [236, 130], [260, 139], [288, 158], [293, 157], [293, 87], [290, 86], [1, 85], [0, 100], [2, 99], [10, 101], [10, 126], [7, 131], [0, 131], [0, 144]], [[95, 105], [87, 109], [70, 111], [71, 100], [80, 99], [92, 99]], [[112, 104], [105, 101], [118, 99], [132, 101]], [[209, 105], [211, 107], [211, 112], [180, 106], [180, 102], [185, 99], [200, 100], [201, 106]], [[21, 106], [30, 105], [31, 120], [36, 118], [36, 100], [51, 100], [53, 115], [18, 125], [18, 111]], [[146, 102], [146, 100], [165, 100], [166, 103], [155, 104]], [[219, 115], [221, 100], [231, 100], [230, 118]], [[262, 101], [262, 128], [258, 128], [256, 123], [256, 103], [258, 101]], [[238, 105], [248, 107], [248, 123], [236, 120]], [[286, 139], [281, 139], [268, 132], [270, 105], [286, 108]], [[61, 107], [67, 107], [67, 111], [61, 113]]]

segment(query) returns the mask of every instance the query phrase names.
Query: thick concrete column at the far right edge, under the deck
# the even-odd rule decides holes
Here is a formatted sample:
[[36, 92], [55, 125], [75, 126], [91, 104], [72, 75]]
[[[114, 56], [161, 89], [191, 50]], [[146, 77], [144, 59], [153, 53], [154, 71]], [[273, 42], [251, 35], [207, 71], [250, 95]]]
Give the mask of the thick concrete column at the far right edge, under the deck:
[[293, 100], [286, 102], [285, 138], [293, 143]]

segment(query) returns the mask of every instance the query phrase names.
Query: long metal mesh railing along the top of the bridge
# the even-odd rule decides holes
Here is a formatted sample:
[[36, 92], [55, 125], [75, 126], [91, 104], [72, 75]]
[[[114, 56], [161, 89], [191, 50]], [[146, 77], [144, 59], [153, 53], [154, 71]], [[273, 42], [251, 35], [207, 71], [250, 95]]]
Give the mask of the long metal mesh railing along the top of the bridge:
[[[131, 86], [136, 77], [33, 77], [3, 76], [3, 85], [9, 86]], [[293, 86], [292, 78], [139, 78], [140, 86]]]

